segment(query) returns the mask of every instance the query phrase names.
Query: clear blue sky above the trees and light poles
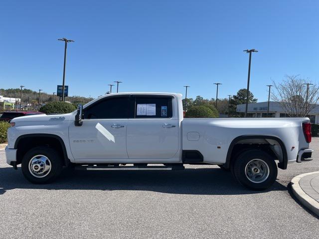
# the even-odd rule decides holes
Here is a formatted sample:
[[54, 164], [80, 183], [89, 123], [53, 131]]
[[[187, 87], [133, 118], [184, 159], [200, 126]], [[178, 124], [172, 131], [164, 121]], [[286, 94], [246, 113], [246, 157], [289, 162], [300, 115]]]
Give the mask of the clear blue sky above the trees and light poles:
[[247, 86], [266, 101], [270, 78], [319, 80], [319, 1], [105, 0], [0, 3], [0, 88], [56, 92], [68, 45], [69, 95], [163, 91], [215, 98]]

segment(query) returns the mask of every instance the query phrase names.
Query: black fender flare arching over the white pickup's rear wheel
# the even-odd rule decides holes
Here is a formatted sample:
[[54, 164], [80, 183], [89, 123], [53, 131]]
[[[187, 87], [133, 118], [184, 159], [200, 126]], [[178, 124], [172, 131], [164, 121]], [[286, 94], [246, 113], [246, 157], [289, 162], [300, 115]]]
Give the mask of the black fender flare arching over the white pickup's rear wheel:
[[283, 152], [283, 160], [282, 162], [278, 163], [278, 167], [281, 169], [287, 169], [287, 163], [288, 163], [288, 154], [286, 150], [286, 146], [283, 143], [283, 141], [276, 136], [271, 136], [271, 135], [241, 135], [233, 139], [233, 141], [230, 143], [228, 151], [227, 151], [227, 156], [226, 156], [226, 163], [225, 167], [229, 168], [230, 163], [231, 163], [231, 155], [234, 149], [234, 146], [241, 140], [246, 140], [246, 139], [272, 139], [278, 142], [278, 144], [281, 146], [282, 152]]

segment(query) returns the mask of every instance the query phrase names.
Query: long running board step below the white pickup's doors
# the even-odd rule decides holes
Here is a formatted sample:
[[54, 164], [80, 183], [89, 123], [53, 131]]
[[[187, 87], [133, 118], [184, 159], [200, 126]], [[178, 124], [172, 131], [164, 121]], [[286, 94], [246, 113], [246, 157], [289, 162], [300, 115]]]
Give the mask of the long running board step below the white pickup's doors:
[[184, 166], [76, 166], [76, 170], [183, 170]]

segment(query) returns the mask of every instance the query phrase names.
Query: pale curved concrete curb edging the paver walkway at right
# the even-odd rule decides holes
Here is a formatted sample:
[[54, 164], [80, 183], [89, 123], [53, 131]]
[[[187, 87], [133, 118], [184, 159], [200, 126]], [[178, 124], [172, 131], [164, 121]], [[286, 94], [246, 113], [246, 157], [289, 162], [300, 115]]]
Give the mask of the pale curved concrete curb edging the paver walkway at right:
[[317, 216], [319, 216], [319, 203], [313, 199], [312, 197], [308, 196], [308, 194], [306, 194], [302, 188], [299, 185], [299, 181], [310, 174], [314, 174], [314, 173], [319, 173], [319, 171], [316, 172], [312, 172], [312, 173], [304, 173], [304, 174], [300, 174], [296, 177], [294, 177], [291, 182], [292, 182], [292, 190], [294, 195], [298, 198], [298, 200], [301, 202], [301, 204], [303, 204], [306, 208], [308, 208], [310, 211], [312, 211], [313, 213], [315, 213]]

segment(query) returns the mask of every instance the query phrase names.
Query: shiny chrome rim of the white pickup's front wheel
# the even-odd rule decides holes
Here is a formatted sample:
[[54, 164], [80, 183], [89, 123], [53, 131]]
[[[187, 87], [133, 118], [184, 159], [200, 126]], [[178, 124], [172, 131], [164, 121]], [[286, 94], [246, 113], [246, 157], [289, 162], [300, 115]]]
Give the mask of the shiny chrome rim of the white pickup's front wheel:
[[29, 171], [36, 178], [44, 178], [51, 171], [51, 161], [47, 156], [35, 155], [29, 161]]

